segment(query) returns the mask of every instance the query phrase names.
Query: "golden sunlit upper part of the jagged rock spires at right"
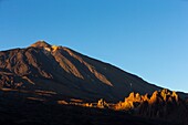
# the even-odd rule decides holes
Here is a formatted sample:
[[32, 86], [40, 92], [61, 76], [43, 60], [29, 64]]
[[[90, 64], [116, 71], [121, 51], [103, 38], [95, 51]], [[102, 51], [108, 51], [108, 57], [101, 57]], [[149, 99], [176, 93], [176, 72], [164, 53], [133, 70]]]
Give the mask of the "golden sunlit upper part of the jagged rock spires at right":
[[[161, 90], [161, 91], [155, 91], [152, 96], [148, 94], [139, 95], [139, 93], [132, 92], [128, 97], [125, 97], [124, 102], [119, 102], [116, 104], [116, 110], [130, 110], [130, 108], [144, 108], [146, 105], [147, 107], [157, 107], [155, 115], [158, 114], [158, 110], [161, 110], [161, 107], [167, 105], [174, 105], [178, 106], [181, 100], [176, 94], [176, 92], [170, 92], [169, 90]], [[164, 110], [166, 111], [166, 110]], [[142, 113], [142, 112], [140, 112]]]

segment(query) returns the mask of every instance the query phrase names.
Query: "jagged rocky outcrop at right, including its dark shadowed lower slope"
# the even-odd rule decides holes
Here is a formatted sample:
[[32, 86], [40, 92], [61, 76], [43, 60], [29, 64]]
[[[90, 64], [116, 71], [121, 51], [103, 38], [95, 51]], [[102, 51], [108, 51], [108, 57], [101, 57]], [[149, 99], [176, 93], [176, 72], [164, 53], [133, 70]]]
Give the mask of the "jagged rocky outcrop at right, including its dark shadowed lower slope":
[[132, 111], [138, 116], [171, 121], [182, 125], [188, 123], [186, 101], [169, 90], [155, 91], [152, 96], [130, 93], [124, 102], [115, 105], [115, 110]]

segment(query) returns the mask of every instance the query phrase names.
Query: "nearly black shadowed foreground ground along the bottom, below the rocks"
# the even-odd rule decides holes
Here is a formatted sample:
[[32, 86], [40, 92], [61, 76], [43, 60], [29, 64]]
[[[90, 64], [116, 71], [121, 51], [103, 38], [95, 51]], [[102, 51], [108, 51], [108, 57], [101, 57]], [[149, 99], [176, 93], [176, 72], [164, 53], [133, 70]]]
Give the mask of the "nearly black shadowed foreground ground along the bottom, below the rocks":
[[[1, 125], [178, 125], [132, 116], [126, 112], [60, 105], [58, 96], [0, 91]], [[55, 97], [56, 96], [56, 97]], [[39, 98], [40, 97], [40, 98]], [[43, 100], [42, 100], [43, 98]], [[180, 125], [180, 124], [179, 124]]]

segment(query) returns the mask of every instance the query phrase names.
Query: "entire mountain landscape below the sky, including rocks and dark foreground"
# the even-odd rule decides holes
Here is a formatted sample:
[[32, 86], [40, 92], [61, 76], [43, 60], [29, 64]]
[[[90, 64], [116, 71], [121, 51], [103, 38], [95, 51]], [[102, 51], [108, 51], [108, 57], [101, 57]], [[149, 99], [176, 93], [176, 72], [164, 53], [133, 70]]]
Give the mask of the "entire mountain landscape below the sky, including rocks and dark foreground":
[[0, 52], [0, 124], [187, 125], [188, 95], [38, 41]]

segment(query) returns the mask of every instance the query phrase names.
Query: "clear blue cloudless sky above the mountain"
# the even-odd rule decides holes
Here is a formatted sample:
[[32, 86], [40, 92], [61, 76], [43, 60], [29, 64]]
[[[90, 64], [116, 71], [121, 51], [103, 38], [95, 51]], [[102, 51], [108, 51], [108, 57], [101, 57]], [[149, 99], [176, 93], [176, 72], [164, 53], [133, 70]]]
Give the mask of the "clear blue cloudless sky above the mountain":
[[0, 50], [38, 40], [188, 92], [187, 0], [0, 0]]

